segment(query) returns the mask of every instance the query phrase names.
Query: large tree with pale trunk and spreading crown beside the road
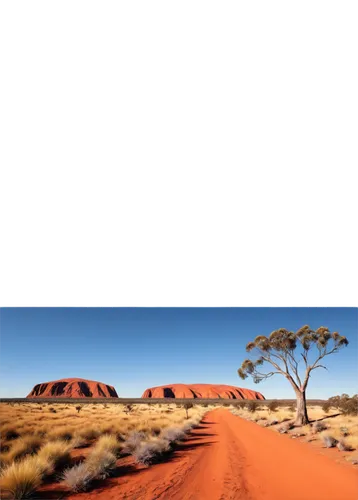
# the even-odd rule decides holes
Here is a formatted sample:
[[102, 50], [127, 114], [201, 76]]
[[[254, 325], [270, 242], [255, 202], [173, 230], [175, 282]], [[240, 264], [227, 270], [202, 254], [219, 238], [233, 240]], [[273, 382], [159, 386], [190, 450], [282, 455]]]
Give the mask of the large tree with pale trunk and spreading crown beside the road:
[[[331, 342], [331, 345], [329, 346]], [[320, 361], [329, 354], [337, 353], [342, 347], [348, 345], [346, 337], [338, 332], [331, 333], [325, 326], [312, 330], [308, 325], [303, 326], [296, 333], [285, 328], [280, 328], [271, 333], [269, 337], [259, 335], [253, 342], [249, 342], [246, 351], [259, 356], [256, 360], [245, 359], [238, 369], [238, 374], [243, 380], [249, 375], [255, 383], [266, 380], [275, 374], [283, 375], [291, 384], [296, 394], [297, 413], [295, 425], [305, 425], [309, 422], [306, 404], [306, 389], [311, 372], [316, 368], [324, 368]], [[312, 348], [316, 348], [313, 362], [309, 360]], [[304, 373], [299, 373], [301, 356], [304, 361]], [[265, 369], [259, 368], [264, 363], [270, 364], [274, 370], [264, 373]], [[271, 368], [272, 370], [272, 368]]]

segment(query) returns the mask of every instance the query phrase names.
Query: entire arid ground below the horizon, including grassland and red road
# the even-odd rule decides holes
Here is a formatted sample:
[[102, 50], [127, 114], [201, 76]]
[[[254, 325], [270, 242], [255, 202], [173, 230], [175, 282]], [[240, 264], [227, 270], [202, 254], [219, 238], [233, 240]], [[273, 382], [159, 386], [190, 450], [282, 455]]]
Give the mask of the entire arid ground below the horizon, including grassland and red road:
[[358, 417], [308, 413], [297, 428], [294, 407], [267, 401], [0, 403], [1, 495], [355, 500]]

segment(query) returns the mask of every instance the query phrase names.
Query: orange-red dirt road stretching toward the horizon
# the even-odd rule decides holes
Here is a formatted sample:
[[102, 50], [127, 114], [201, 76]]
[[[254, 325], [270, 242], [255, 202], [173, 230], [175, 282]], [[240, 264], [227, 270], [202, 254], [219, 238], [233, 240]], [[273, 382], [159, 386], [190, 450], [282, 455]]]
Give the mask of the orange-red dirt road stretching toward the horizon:
[[[71, 500], [357, 500], [358, 472], [306, 443], [214, 410], [165, 463], [140, 468]], [[122, 467], [121, 467], [122, 466]]]

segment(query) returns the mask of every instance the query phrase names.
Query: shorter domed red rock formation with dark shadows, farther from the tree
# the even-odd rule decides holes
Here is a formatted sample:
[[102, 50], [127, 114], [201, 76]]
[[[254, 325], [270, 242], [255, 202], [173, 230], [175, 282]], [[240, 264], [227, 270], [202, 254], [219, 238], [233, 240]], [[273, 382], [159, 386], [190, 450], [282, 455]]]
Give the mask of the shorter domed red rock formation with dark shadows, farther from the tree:
[[28, 398], [118, 398], [111, 385], [82, 378], [63, 378], [37, 384]]

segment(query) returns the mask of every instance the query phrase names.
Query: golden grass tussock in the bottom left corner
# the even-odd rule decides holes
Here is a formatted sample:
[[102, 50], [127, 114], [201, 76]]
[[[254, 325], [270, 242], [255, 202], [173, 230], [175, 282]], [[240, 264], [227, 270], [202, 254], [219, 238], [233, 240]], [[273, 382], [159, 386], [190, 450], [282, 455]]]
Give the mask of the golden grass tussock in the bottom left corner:
[[8, 492], [13, 500], [28, 498], [40, 484], [41, 473], [32, 457], [13, 462], [1, 471], [0, 489]]

